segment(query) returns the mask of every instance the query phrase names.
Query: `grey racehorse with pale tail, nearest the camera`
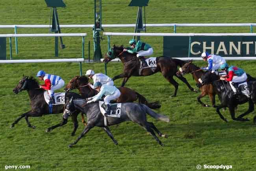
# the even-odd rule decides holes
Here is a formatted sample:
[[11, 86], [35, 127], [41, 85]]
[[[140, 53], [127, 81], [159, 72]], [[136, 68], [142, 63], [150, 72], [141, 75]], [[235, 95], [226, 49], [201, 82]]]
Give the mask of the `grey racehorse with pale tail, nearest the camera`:
[[[72, 147], [74, 144], [76, 144], [90, 129], [93, 127], [102, 127], [104, 131], [108, 134], [108, 136], [113, 140], [115, 145], [117, 145], [117, 141], [113, 137], [112, 133], [110, 132], [108, 126], [109, 125], [117, 125], [119, 123], [122, 123], [124, 121], [133, 121], [142, 127], [144, 127], [160, 144], [161, 141], [158, 139], [154, 131], [158, 133], [159, 136], [167, 138], [166, 135], [162, 134], [158, 129], [155, 127], [155, 125], [151, 122], [147, 121], [146, 114], [149, 114], [155, 119], [159, 119], [161, 121], [169, 122], [169, 118], [162, 114], [157, 114], [153, 110], [151, 110], [149, 107], [143, 104], [138, 103], [122, 103], [120, 111], [120, 118], [118, 117], [110, 117], [107, 116], [107, 125], [104, 123], [104, 116], [100, 112], [99, 102], [93, 102], [93, 103], [87, 103], [85, 99], [70, 99], [70, 101], [67, 103], [64, 114], [72, 114], [73, 111], [80, 110], [82, 113], [86, 113], [87, 116], [87, 125], [83, 129], [83, 132], [75, 142], [69, 144], [69, 147]], [[154, 131], [153, 131], [154, 130]]]

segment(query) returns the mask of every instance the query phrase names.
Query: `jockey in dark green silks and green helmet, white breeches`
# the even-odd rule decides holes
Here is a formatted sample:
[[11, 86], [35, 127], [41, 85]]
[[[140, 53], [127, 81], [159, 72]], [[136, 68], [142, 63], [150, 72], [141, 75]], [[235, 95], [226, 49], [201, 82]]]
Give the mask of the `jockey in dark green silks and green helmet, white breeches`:
[[140, 40], [136, 42], [135, 39], [129, 41], [130, 48], [124, 48], [123, 51], [128, 51], [129, 53], [137, 53], [137, 57], [141, 62], [141, 67], [147, 67], [146, 61], [143, 56], [149, 56], [153, 53], [153, 48], [149, 44], [143, 43]]

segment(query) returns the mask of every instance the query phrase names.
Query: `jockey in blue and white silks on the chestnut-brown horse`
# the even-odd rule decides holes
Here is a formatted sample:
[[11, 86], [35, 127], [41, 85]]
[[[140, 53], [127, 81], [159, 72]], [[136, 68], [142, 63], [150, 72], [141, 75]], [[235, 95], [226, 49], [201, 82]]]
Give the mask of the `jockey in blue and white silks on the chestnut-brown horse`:
[[209, 53], [203, 52], [201, 54], [201, 57], [204, 61], [208, 61], [208, 66], [207, 67], [201, 67], [202, 70], [211, 70], [211, 73], [215, 72], [215, 70], [217, 71], [221, 64], [226, 63], [226, 60], [219, 56], [219, 55], [209, 55]]

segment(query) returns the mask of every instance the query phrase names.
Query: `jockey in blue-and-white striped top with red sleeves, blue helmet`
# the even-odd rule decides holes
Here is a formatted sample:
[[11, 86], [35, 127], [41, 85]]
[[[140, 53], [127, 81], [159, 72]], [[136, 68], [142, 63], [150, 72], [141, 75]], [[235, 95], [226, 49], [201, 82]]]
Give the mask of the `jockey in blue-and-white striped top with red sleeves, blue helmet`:
[[48, 94], [50, 94], [50, 102], [53, 104], [54, 101], [54, 90], [57, 90], [59, 88], [62, 88], [65, 84], [63, 79], [57, 75], [52, 74], [46, 74], [43, 70], [40, 70], [37, 72], [37, 77], [40, 80], [44, 80], [44, 85], [39, 85], [39, 88], [43, 88], [48, 91]]

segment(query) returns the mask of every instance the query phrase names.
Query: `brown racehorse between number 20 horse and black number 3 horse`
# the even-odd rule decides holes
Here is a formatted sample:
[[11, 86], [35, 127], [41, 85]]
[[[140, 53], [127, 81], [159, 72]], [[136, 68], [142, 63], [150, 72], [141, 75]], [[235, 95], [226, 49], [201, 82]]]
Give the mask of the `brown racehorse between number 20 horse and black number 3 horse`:
[[[202, 71], [199, 67], [195, 66], [195, 64], [192, 64], [192, 61], [189, 61], [187, 63], [185, 63], [182, 66], [182, 70], [178, 71], [176, 74], [177, 75], [185, 75], [185, 74], [189, 74], [191, 73], [193, 76], [193, 79], [195, 79], [195, 81], [197, 82], [197, 84], [200, 84], [200, 82], [198, 81], [199, 78], [202, 77], [202, 75], [204, 75], [204, 71]], [[197, 101], [204, 107], [210, 107], [210, 105], [206, 105], [204, 104], [200, 99], [206, 95], [209, 96], [210, 100], [211, 100], [211, 104], [213, 107], [215, 106], [215, 95], [216, 92], [213, 88], [212, 84], [208, 84], [208, 85], [203, 85], [200, 87], [200, 91], [201, 94], [197, 97]]]

